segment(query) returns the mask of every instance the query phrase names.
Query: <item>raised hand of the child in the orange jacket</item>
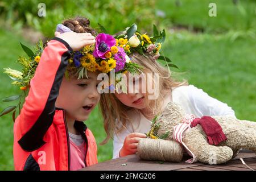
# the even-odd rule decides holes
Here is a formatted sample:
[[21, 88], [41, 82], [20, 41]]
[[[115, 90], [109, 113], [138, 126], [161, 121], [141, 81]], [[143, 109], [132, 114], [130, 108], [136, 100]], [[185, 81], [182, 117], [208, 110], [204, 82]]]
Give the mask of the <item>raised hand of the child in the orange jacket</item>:
[[73, 51], [79, 51], [82, 47], [95, 43], [95, 38], [90, 33], [76, 33], [76, 32], [55, 32], [57, 38], [65, 40]]

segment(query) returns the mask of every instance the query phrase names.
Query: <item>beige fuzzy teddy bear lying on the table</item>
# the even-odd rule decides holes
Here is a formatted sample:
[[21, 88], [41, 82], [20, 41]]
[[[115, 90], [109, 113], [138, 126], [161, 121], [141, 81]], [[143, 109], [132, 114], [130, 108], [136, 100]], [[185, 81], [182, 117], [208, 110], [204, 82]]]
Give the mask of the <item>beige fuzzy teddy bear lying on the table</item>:
[[[153, 128], [153, 130], [157, 136], [166, 135], [165, 140], [174, 142], [175, 139], [179, 142], [180, 146], [185, 148], [187, 153], [193, 157], [189, 163], [197, 160], [208, 164], [226, 163], [241, 148], [256, 152], [256, 122], [240, 120], [230, 116], [205, 116], [208, 119], [213, 119], [221, 129], [219, 135], [209, 137], [205, 134], [203, 125], [197, 125], [200, 123], [199, 119], [197, 118], [196, 121], [191, 114], [193, 120], [191, 122], [192, 120], [189, 121], [188, 116], [180, 105], [169, 102], [154, 122], [154, 126], [158, 127], [155, 130]], [[212, 126], [208, 125], [208, 127]], [[185, 130], [183, 133], [177, 132], [180, 129]], [[140, 144], [138, 151], [140, 150], [139, 147]]]

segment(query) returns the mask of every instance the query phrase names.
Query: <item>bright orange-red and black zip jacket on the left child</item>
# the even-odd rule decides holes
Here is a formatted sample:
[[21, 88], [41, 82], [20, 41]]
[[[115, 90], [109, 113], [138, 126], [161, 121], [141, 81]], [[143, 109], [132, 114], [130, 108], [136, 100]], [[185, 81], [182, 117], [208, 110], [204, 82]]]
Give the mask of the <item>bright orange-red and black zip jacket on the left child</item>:
[[[14, 123], [15, 170], [69, 170], [70, 148], [65, 110], [55, 107], [72, 48], [53, 38], [44, 49], [30, 91]], [[97, 163], [97, 145], [83, 122], [74, 127], [85, 141], [86, 166]]]

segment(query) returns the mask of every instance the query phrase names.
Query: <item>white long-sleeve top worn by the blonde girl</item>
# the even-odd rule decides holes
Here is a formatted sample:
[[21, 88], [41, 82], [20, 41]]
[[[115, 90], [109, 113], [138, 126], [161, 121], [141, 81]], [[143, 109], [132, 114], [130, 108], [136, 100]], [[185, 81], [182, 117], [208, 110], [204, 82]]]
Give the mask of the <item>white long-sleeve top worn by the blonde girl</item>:
[[[179, 86], [173, 89], [172, 102], [183, 107], [185, 113], [194, 114], [196, 117], [202, 117], [203, 115], [230, 115], [236, 117], [232, 107], [210, 97], [202, 89], [193, 85]], [[121, 133], [113, 136], [113, 159], [119, 158], [119, 151], [127, 135], [134, 132], [148, 133], [151, 128], [151, 121], [144, 117], [141, 112], [135, 113], [133, 111], [127, 114], [131, 118], [131, 124], [126, 126], [126, 129]]]

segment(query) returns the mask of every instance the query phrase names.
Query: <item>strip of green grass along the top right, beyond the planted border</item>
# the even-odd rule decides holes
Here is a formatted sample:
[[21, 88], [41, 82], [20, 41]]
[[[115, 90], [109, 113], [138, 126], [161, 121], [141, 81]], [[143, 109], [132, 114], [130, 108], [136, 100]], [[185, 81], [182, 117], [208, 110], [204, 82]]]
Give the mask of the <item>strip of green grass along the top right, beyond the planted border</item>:
[[[209, 3], [216, 4], [216, 17], [208, 15]], [[238, 1], [237, 5], [232, 0], [201, 0], [200, 3], [197, 0], [156, 1], [156, 7], [166, 14], [164, 21], [176, 26], [208, 32], [255, 30], [256, 27], [256, 3], [253, 0]]]

